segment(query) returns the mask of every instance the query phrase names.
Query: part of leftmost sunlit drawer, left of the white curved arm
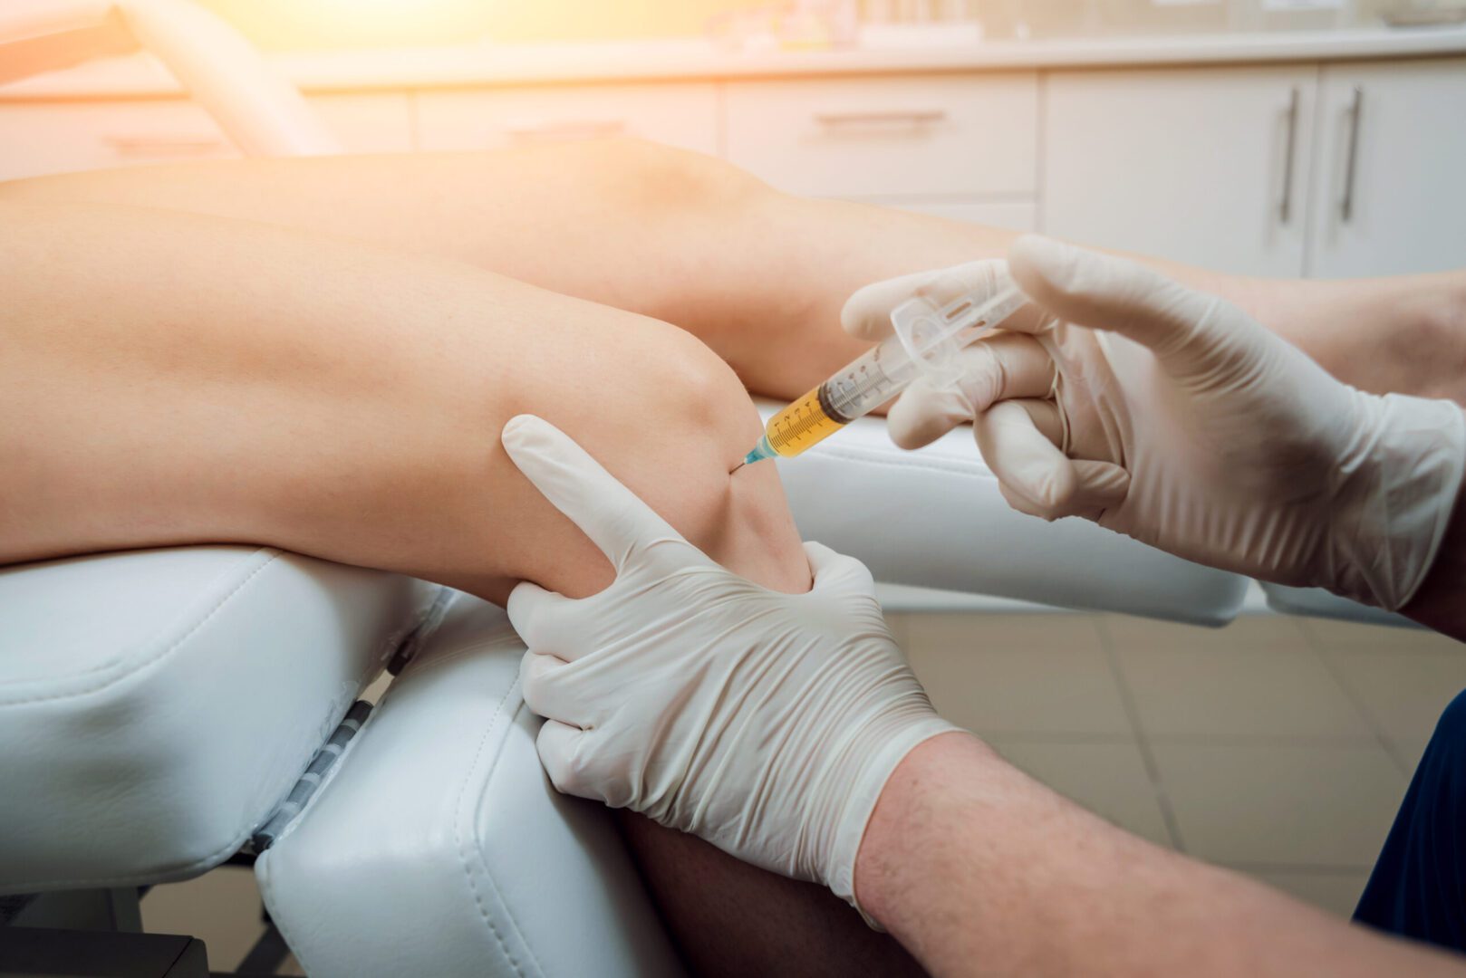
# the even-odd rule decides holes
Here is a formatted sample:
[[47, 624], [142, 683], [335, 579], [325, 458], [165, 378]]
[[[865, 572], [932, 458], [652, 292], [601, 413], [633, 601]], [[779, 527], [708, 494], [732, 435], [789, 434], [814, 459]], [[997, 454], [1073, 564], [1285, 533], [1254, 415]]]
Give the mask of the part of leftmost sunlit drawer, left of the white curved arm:
[[237, 155], [183, 100], [0, 103], [0, 179]]

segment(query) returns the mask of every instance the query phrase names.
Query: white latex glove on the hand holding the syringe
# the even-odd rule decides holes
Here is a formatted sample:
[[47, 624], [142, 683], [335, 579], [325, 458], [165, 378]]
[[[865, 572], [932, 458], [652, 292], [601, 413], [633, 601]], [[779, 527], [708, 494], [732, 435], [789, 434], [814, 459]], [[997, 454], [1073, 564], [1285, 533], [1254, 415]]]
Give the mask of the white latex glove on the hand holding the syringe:
[[[1009, 262], [1048, 315], [1014, 317], [968, 352], [954, 389], [907, 390], [890, 416], [899, 444], [973, 421], [1025, 513], [1085, 516], [1388, 610], [1409, 603], [1466, 468], [1459, 406], [1362, 393], [1240, 309], [1130, 261], [1028, 236]], [[862, 289], [846, 327], [877, 339], [903, 298], [890, 283]]]

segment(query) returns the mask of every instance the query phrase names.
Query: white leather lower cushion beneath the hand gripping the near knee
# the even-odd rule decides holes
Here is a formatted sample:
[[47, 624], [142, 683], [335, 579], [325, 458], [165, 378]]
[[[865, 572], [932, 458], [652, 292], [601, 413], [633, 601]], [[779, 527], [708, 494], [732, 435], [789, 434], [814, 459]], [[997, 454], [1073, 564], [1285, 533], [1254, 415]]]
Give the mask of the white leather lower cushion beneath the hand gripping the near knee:
[[459, 597], [255, 864], [312, 978], [679, 971], [610, 814], [539, 767], [523, 650]]

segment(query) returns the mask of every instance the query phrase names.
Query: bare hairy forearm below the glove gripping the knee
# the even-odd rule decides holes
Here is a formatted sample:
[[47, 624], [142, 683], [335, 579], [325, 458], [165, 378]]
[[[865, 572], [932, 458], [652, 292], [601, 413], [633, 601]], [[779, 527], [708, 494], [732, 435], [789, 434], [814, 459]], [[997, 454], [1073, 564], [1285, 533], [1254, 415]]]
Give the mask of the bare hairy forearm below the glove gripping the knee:
[[1463, 975], [1129, 836], [968, 735], [912, 751], [875, 808], [856, 896], [935, 975]]

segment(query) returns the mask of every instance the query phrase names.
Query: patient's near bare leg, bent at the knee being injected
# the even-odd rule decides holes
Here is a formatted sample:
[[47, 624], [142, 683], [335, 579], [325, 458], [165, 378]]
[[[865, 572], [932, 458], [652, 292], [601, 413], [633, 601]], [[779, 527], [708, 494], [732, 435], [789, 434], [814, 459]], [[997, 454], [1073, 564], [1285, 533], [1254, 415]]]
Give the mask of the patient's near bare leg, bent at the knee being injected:
[[[729, 475], [759, 431], [748, 396], [682, 330], [240, 221], [0, 204], [0, 563], [240, 541], [494, 600], [519, 579], [588, 594], [610, 567], [498, 444], [529, 411], [717, 560], [809, 584], [774, 469]], [[660, 896], [698, 883], [664, 900], [677, 933], [732, 905], [704, 952], [759, 974], [909, 965], [825, 891], [649, 823], [632, 836]], [[806, 957], [773, 956], [790, 946]]]

